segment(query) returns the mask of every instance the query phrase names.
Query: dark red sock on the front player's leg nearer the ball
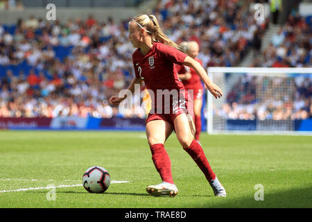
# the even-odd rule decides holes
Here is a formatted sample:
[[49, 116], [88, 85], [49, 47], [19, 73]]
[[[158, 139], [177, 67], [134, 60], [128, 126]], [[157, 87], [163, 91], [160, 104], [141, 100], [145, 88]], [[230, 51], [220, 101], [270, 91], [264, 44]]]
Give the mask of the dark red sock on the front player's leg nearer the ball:
[[164, 148], [164, 144], [154, 144], [150, 146], [150, 151], [152, 152], [152, 160], [162, 181], [174, 184], [171, 173], [171, 161]]

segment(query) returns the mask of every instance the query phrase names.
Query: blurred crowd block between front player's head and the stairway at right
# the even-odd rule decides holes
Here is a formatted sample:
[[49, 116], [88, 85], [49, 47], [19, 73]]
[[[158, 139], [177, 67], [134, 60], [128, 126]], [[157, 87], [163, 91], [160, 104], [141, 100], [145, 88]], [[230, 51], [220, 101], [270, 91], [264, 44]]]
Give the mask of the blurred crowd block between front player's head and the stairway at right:
[[153, 13], [171, 40], [198, 42], [205, 68], [235, 67], [268, 27], [268, 19], [254, 19], [250, 3], [255, 2], [161, 0]]

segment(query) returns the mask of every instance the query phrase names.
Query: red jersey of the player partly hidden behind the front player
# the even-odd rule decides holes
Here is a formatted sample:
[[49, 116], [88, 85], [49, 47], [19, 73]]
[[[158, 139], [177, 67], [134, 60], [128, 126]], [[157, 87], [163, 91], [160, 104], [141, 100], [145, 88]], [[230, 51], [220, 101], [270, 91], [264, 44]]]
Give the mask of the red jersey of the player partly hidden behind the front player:
[[[202, 65], [202, 60], [195, 58], [196, 61]], [[184, 65], [176, 65], [177, 73], [178, 74], [185, 74], [187, 73], [186, 67]], [[189, 72], [191, 73], [191, 78], [189, 80], [182, 80], [182, 83], [185, 89], [202, 89], [202, 83], [200, 82], [200, 76], [196, 73], [196, 71], [189, 67]]]

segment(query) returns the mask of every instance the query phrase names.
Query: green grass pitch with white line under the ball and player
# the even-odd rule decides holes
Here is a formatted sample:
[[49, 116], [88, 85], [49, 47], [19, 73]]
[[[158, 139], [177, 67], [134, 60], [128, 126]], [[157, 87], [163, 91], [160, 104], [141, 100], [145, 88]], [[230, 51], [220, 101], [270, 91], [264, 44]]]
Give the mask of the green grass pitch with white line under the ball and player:
[[[174, 134], [165, 147], [179, 194], [169, 198], [145, 191], [161, 181], [144, 132], [2, 130], [0, 207], [312, 207], [312, 137], [202, 133], [201, 143], [226, 198], [213, 196]], [[55, 200], [47, 200], [47, 185], [80, 185], [92, 166], [129, 182], [111, 184], [104, 194], [60, 187]], [[263, 200], [256, 201], [258, 184]]]

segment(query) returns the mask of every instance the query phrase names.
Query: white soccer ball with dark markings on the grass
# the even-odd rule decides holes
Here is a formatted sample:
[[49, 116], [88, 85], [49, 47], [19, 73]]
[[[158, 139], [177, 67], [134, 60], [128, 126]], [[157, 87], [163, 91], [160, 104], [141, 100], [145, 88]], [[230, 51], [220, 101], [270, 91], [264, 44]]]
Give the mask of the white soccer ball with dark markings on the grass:
[[83, 173], [83, 187], [90, 193], [103, 193], [110, 187], [110, 173], [103, 167], [90, 167]]

